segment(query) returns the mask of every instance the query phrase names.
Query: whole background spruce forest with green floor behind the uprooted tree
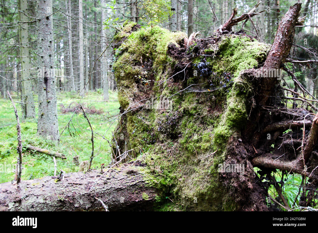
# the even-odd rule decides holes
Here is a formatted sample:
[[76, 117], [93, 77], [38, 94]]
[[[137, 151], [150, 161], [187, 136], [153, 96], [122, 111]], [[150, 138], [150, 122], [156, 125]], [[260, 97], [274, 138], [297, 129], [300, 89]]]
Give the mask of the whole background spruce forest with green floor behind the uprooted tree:
[[[43, 28], [45, 24], [39, 23], [38, 1], [0, 0], [0, 163], [3, 165], [0, 183], [14, 179], [14, 165], [17, 163], [17, 121], [7, 91], [20, 117], [24, 167], [22, 179], [54, 174], [52, 157], [30, 151], [28, 145], [63, 153], [66, 159], [56, 159], [58, 171], [77, 172], [82, 169], [79, 164], [91, 158], [91, 131], [94, 134], [91, 168], [100, 169], [112, 162], [113, 152], [109, 141], [112, 140], [120, 114], [120, 97], [117, 96], [112, 69], [112, 54], [116, 49], [112, 47], [112, 42], [123, 23], [131, 20], [141, 27], [159, 25], [165, 29], [183, 31], [188, 36], [200, 31], [197, 37], [204, 38], [211, 36], [227, 21], [233, 8], [237, 8], [238, 15], [242, 15], [258, 3], [256, 0], [46, 2], [49, 5], [49, 16], [46, 18], [48, 30]], [[296, 47], [292, 53], [298, 61], [317, 60], [318, 0], [262, 0], [258, 11], [264, 11], [255, 17], [256, 24], [241, 22], [233, 27], [233, 31], [244, 30], [260, 42], [272, 44], [281, 17], [297, 2], [303, 3], [301, 13], [306, 19], [304, 27], [296, 28], [295, 40], [300, 47]], [[52, 46], [45, 46], [45, 42]], [[303, 47], [308, 53], [301, 50]], [[54, 79], [50, 93], [53, 99], [56, 95], [56, 101], [52, 99], [52, 104], [46, 110], [39, 107], [43, 101], [42, 86], [46, 82], [39, 75], [42, 59], [46, 62], [41, 53], [46, 54], [54, 71], [54, 75], [50, 76]], [[311, 95], [318, 98], [317, 63], [290, 62], [287, 66]], [[284, 75], [282, 86], [288, 85], [289, 89], [294, 90], [294, 81]], [[48, 89], [46, 87], [45, 91]], [[287, 98], [290, 97], [286, 103], [288, 107], [304, 105], [303, 101], [295, 100], [292, 93], [286, 91], [285, 94]], [[313, 104], [314, 111], [316, 107]], [[46, 111], [52, 112], [48, 118], [42, 117]], [[39, 120], [39, 117], [43, 120]], [[53, 135], [47, 127], [52, 126], [54, 120], [57, 122], [53, 125], [58, 126], [58, 129]], [[144, 149], [140, 148], [140, 153]], [[290, 186], [285, 186], [284, 194], [297, 199], [297, 185], [300, 183], [301, 176], [295, 176]]]

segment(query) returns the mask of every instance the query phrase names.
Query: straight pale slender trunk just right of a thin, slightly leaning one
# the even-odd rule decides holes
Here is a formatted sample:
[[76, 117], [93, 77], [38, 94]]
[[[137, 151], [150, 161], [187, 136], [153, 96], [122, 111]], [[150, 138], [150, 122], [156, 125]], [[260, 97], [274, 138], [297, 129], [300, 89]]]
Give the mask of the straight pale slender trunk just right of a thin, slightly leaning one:
[[83, 0], [79, 0], [79, 95], [84, 95]]

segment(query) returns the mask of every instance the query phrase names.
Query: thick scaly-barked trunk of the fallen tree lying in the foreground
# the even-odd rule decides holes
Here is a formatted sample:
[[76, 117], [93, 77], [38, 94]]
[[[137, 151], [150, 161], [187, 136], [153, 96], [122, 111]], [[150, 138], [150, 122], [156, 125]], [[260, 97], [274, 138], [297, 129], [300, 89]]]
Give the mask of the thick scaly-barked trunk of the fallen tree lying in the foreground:
[[3, 183], [0, 211], [105, 210], [101, 201], [109, 210], [151, 210], [157, 190], [137, 168], [134, 171], [122, 165], [101, 178], [100, 171], [92, 171], [68, 173], [64, 180], [47, 176]]

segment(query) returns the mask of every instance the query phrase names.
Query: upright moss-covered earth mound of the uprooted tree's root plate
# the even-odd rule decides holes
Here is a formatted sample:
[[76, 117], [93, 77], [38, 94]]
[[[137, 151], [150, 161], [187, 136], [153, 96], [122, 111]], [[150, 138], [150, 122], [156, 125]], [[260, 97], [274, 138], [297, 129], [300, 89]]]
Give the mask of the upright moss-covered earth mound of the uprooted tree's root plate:
[[[240, 137], [251, 108], [253, 90], [242, 71], [262, 63], [270, 46], [228, 34], [193, 54], [182, 32], [134, 26], [125, 23], [117, 33], [114, 52], [125, 112], [115, 134], [121, 151], [133, 149], [149, 185], [174, 199], [162, 209], [238, 210], [217, 164], [227, 156], [229, 139]], [[168, 55], [168, 47], [183, 56]], [[172, 106], [149, 108], [147, 100]]]

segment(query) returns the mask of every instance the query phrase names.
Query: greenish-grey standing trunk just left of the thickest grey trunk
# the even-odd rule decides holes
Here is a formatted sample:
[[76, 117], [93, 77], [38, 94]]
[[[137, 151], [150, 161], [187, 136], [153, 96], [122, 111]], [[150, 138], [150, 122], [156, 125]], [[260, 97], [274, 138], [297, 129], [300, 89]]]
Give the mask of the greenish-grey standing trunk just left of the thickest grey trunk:
[[[20, 0], [19, 19], [21, 22], [29, 21], [28, 2]], [[21, 80], [22, 80], [22, 117], [35, 118], [35, 107], [32, 93], [32, 83], [30, 76], [30, 58], [29, 58], [29, 31], [28, 23], [23, 23], [19, 26], [20, 34], [20, 55], [21, 55]]]

